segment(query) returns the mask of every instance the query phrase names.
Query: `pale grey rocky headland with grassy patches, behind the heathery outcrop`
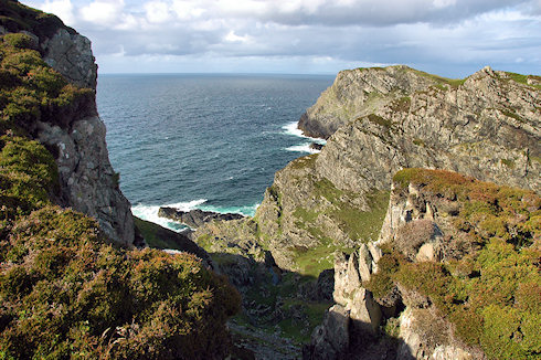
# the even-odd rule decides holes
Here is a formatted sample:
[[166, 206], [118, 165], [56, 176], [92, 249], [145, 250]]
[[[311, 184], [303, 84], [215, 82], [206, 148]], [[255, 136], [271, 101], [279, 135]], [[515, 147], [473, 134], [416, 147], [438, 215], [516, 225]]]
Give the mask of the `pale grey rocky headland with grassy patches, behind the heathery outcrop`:
[[299, 123], [338, 129], [325, 133], [319, 155], [276, 173], [256, 214], [279, 265], [298, 269], [303, 254], [317, 253], [328, 265], [333, 250], [376, 240], [392, 176], [403, 168], [539, 191], [537, 80], [489, 67], [459, 82], [405, 66], [340, 73], [308, 110], [319, 115]]

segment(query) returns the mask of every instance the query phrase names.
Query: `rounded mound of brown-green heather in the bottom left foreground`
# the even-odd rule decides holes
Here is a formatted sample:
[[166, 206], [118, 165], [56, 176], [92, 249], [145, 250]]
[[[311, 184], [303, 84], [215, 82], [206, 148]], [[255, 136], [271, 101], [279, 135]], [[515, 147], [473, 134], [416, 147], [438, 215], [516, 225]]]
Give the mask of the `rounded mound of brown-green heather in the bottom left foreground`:
[[93, 220], [56, 207], [17, 221], [3, 251], [15, 250], [0, 275], [8, 358], [202, 359], [226, 351], [225, 320], [240, 296], [193, 255], [115, 248]]

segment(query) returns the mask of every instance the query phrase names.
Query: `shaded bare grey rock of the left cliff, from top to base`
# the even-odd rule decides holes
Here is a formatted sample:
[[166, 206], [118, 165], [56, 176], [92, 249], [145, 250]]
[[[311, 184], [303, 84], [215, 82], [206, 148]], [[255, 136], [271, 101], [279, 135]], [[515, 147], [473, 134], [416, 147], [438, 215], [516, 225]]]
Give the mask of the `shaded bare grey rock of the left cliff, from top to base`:
[[63, 207], [95, 218], [107, 237], [124, 245], [136, 241], [130, 204], [118, 188], [118, 174], [110, 166], [105, 142], [105, 125], [95, 103], [97, 66], [88, 39], [65, 27], [54, 15], [2, 1], [0, 34], [23, 33], [31, 38], [46, 64], [71, 84], [88, 88], [86, 96], [60, 110], [44, 112], [26, 126], [35, 139], [55, 156]]

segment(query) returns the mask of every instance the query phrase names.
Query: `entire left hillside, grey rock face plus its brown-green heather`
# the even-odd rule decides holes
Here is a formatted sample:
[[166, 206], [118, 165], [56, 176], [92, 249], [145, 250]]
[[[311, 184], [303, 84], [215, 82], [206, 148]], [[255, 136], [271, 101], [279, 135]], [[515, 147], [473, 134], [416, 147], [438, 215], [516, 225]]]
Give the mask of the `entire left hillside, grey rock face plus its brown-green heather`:
[[238, 294], [195, 255], [136, 248], [95, 85], [86, 38], [0, 1], [0, 358], [222, 359]]

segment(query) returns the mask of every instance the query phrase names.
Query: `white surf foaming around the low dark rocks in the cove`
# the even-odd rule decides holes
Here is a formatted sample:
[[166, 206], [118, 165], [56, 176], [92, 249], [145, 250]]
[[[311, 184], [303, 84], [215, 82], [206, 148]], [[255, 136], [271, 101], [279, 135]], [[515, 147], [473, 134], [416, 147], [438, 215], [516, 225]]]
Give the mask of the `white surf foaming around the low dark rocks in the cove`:
[[131, 207], [131, 212], [139, 219], [153, 222], [160, 226], [166, 229], [176, 231], [178, 233], [185, 231], [189, 229], [188, 226], [178, 223], [172, 220], [168, 220], [166, 218], [158, 216], [158, 211], [161, 207], [166, 208], [174, 208], [181, 211], [190, 211], [194, 209], [200, 209], [203, 211], [213, 211], [219, 213], [237, 213], [243, 214], [245, 216], [254, 216], [255, 211], [259, 207], [258, 203], [253, 205], [244, 205], [244, 207], [214, 207], [214, 205], [202, 205], [206, 202], [206, 199], [192, 200], [188, 202], [178, 202], [165, 205], [145, 205], [137, 204]]

